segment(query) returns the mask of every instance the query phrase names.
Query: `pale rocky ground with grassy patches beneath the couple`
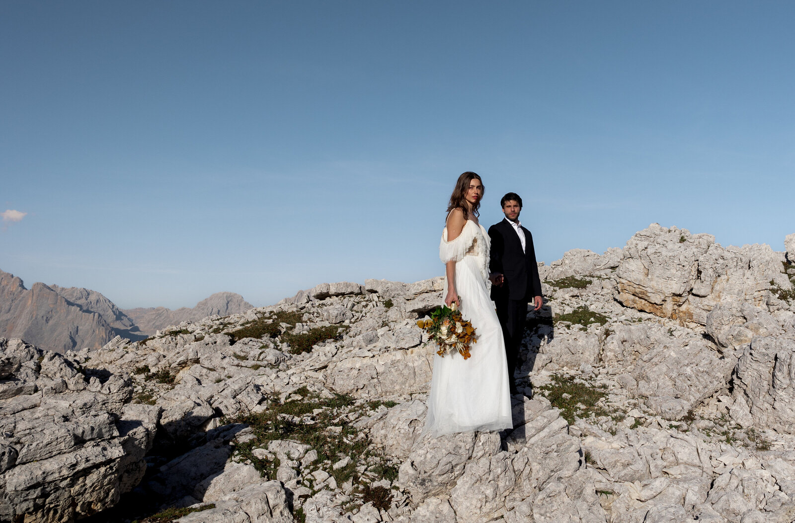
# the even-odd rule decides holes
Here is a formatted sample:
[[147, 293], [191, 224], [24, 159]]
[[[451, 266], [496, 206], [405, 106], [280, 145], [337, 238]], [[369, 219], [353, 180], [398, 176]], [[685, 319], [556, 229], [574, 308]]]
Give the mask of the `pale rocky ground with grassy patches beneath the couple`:
[[0, 339], [0, 519], [791, 522], [785, 246], [653, 224], [542, 265], [499, 433], [419, 436], [435, 349], [415, 322], [439, 278], [322, 284], [95, 351]]

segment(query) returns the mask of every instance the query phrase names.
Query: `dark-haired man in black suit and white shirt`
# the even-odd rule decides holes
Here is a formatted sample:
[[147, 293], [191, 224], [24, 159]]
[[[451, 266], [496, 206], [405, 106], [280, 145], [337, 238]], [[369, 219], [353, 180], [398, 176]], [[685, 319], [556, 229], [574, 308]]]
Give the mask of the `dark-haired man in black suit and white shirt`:
[[497, 316], [505, 338], [508, 358], [510, 393], [518, 393], [514, 384], [514, 371], [525, 333], [527, 304], [533, 310], [541, 308], [541, 279], [538, 277], [533, 235], [522, 227], [519, 212], [522, 198], [509, 192], [500, 200], [505, 219], [489, 227], [491, 237], [491, 299], [497, 306]]

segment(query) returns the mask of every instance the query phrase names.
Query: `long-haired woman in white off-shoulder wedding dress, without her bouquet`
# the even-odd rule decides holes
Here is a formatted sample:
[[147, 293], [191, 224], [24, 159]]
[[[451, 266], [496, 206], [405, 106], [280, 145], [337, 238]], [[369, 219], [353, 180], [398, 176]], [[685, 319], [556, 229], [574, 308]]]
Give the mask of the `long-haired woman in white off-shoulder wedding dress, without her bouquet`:
[[478, 222], [483, 181], [475, 172], [458, 177], [448, 205], [439, 256], [446, 266], [444, 304], [458, 305], [475, 327], [471, 358], [433, 358], [428, 417], [423, 434], [513, 428], [508, 366], [497, 313], [489, 297], [489, 236]]

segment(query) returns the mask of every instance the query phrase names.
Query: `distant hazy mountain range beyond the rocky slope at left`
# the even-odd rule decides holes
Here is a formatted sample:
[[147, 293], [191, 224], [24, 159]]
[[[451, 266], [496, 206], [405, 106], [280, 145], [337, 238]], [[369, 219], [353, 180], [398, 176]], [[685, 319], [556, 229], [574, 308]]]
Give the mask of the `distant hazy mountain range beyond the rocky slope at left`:
[[0, 336], [56, 352], [99, 348], [116, 335], [136, 341], [186, 320], [250, 308], [254, 305], [235, 292], [216, 292], [194, 308], [121, 309], [101, 293], [80, 287], [34, 283], [25, 289], [20, 278], [0, 270]]

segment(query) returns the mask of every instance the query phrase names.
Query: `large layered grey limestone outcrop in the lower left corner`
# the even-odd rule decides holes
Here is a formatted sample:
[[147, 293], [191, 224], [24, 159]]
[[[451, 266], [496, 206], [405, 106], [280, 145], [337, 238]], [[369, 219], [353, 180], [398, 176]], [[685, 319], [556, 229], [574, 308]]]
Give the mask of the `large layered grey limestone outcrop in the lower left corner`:
[[0, 383], [2, 521], [73, 521], [138, 485], [159, 409], [126, 405], [129, 378], [89, 380], [19, 339], [0, 338], [0, 358], [17, 362]]

